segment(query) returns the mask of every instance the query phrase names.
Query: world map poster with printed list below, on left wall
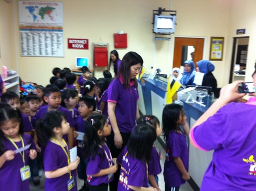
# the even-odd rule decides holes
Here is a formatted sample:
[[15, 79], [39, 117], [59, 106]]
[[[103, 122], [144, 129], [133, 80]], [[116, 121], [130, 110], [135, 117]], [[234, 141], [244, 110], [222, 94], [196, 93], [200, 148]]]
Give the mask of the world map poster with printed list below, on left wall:
[[62, 2], [19, 1], [21, 56], [64, 57]]

